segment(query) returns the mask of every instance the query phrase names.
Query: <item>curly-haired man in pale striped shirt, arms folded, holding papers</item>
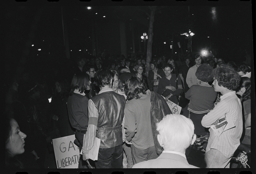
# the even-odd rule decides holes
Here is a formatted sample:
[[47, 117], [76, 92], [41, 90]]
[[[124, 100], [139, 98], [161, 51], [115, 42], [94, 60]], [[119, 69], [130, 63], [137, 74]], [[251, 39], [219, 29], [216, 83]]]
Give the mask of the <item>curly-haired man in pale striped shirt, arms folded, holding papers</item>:
[[[228, 65], [214, 69], [214, 90], [221, 92], [221, 100], [215, 108], [202, 119], [202, 126], [209, 128], [210, 137], [204, 156], [206, 168], [226, 168], [235, 150], [240, 145], [243, 132], [242, 106], [240, 99], [235, 94], [240, 77]], [[223, 131], [219, 136], [213, 129], [220, 127], [223, 120], [230, 119], [234, 127]], [[225, 124], [226, 122], [224, 122]], [[213, 126], [212, 126], [213, 125]]]

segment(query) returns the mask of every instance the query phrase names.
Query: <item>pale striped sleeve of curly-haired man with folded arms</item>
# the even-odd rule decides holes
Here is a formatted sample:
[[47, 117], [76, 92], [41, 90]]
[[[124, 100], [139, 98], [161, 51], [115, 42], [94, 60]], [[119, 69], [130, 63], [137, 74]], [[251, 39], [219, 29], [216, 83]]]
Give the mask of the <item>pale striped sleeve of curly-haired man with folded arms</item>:
[[219, 118], [223, 117], [227, 113], [227, 104], [224, 102], [218, 103], [215, 108], [206, 114], [201, 123], [203, 127], [210, 127]]

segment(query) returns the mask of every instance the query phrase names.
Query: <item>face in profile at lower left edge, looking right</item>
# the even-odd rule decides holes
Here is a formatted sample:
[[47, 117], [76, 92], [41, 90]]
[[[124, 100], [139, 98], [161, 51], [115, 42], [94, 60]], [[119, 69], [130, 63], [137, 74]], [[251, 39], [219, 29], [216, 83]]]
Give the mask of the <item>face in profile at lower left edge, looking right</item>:
[[10, 154], [12, 157], [23, 154], [25, 149], [25, 138], [26, 134], [20, 131], [18, 123], [14, 120], [10, 120], [10, 125], [11, 125], [11, 134], [9, 138], [7, 139], [7, 142], [5, 144], [5, 148], [10, 151]]

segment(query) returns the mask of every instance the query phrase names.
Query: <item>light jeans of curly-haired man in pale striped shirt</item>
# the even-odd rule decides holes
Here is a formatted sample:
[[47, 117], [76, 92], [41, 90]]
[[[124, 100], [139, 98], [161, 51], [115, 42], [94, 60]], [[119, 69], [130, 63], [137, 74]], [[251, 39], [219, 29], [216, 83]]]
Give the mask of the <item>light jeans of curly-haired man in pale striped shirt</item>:
[[230, 159], [225, 157], [219, 150], [213, 148], [204, 155], [206, 168], [229, 168]]

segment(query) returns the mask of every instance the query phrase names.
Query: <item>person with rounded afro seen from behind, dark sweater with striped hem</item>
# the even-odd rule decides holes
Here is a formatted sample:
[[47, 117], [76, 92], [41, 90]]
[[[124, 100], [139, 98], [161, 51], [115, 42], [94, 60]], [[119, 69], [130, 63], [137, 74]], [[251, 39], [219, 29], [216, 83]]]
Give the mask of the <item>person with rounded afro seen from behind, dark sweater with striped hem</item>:
[[199, 85], [192, 85], [186, 92], [185, 97], [190, 100], [188, 110], [190, 119], [195, 125], [195, 134], [200, 137], [208, 134], [208, 129], [202, 126], [201, 121], [204, 115], [214, 108], [217, 92], [209, 85], [213, 80], [213, 68], [208, 64], [202, 64], [196, 70], [196, 77]]

